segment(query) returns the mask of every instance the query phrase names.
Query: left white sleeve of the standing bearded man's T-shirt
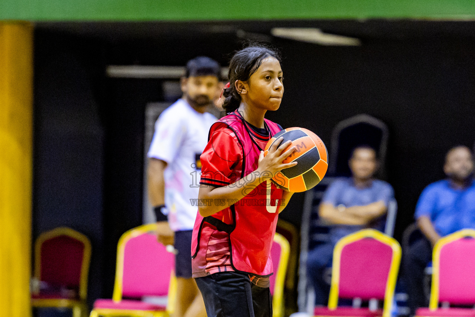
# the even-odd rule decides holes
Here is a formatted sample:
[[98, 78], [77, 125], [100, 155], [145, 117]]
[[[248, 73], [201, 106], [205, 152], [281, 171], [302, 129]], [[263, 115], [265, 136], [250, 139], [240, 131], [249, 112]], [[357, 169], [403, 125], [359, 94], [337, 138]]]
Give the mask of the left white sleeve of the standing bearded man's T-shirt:
[[148, 157], [170, 164], [177, 155], [186, 135], [186, 125], [183, 119], [177, 120], [175, 115], [176, 113], [173, 114], [171, 111], [165, 110], [159, 116], [155, 123], [155, 133], [147, 154]]

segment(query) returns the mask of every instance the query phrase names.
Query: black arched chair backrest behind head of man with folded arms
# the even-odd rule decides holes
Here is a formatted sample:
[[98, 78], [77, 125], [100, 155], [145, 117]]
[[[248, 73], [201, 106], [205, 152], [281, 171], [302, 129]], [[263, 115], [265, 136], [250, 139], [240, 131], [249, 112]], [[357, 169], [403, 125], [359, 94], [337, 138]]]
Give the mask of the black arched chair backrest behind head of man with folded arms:
[[388, 126], [371, 115], [355, 115], [343, 120], [333, 129], [328, 173], [331, 176], [351, 176], [348, 159], [353, 148], [361, 144], [376, 150], [380, 158], [380, 173], [384, 173], [388, 137]]

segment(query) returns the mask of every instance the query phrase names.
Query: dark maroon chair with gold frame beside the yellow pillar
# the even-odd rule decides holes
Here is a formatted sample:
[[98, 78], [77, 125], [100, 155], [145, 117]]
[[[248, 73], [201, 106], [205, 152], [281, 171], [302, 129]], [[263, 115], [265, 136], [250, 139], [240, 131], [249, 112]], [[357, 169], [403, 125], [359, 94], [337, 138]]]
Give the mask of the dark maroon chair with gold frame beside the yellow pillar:
[[84, 234], [67, 227], [41, 233], [31, 306], [71, 308], [74, 317], [84, 316], [90, 259], [91, 242]]

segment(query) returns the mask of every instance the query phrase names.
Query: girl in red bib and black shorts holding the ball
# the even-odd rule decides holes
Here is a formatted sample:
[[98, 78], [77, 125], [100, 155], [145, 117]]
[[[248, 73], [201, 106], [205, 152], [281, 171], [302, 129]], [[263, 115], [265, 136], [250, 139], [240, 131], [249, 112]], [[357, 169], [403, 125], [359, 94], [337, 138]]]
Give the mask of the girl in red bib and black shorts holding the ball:
[[223, 91], [228, 115], [209, 130], [200, 156], [198, 214], [191, 246], [193, 277], [209, 317], [271, 317], [270, 250], [277, 217], [292, 192], [271, 178], [295, 147], [267, 141], [282, 127], [264, 118], [282, 100], [280, 57], [269, 48], [238, 51]]

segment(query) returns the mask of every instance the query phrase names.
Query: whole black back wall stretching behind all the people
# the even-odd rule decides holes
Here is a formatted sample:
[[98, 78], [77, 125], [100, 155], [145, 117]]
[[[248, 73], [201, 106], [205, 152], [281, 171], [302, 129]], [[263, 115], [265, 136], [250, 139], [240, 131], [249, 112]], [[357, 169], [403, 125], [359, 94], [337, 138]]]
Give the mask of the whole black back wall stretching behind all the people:
[[[352, 115], [389, 126], [387, 181], [399, 203], [398, 239], [422, 189], [444, 177], [447, 150], [474, 143], [475, 24], [301, 23], [357, 36], [361, 47], [272, 38], [272, 25], [237, 24], [250, 32], [241, 38], [233, 26], [217, 32], [205, 24], [38, 25], [34, 238], [68, 225], [93, 240], [91, 300], [112, 296], [117, 240], [142, 222], [144, 107], [163, 99], [160, 80], [106, 78], [106, 65], [176, 66], [198, 55], [227, 65], [242, 37], [270, 40], [284, 58], [285, 97], [268, 118], [308, 128], [327, 147], [333, 127]], [[303, 197], [296, 194], [281, 215], [297, 227]]]

